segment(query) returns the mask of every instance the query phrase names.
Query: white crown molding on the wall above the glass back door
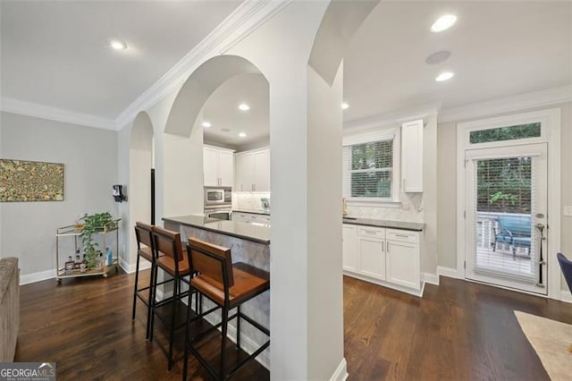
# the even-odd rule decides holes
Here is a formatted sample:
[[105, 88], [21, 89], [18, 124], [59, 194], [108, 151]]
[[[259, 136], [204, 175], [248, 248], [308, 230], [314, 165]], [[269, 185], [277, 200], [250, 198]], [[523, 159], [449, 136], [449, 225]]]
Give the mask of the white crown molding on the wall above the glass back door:
[[570, 101], [572, 101], [572, 85], [443, 109], [439, 114], [439, 123], [458, 122], [481, 116], [552, 106]]

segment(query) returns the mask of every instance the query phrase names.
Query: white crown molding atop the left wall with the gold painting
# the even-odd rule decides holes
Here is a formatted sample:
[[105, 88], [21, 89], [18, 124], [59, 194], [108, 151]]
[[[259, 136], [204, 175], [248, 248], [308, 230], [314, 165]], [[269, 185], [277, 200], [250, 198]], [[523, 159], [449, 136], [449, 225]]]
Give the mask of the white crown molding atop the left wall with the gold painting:
[[2, 98], [1, 109], [5, 113], [35, 116], [50, 121], [80, 124], [82, 126], [95, 127], [105, 130], [116, 130], [115, 123], [111, 119], [101, 118], [91, 114], [75, 113], [63, 108], [39, 105], [38, 103], [24, 102], [11, 97]]

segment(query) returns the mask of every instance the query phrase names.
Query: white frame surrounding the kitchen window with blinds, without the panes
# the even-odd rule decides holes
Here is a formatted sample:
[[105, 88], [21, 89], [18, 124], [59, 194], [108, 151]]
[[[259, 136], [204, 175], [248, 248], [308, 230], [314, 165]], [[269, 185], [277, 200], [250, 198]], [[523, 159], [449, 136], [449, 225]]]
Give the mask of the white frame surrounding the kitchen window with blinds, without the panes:
[[[400, 128], [394, 127], [390, 129], [383, 129], [378, 131], [371, 131], [365, 133], [359, 133], [356, 135], [345, 136], [343, 138], [343, 147], [353, 146], [356, 144], [366, 144], [372, 143], [374, 141], [380, 140], [393, 140], [393, 166], [391, 169], [391, 198], [373, 198], [373, 197], [346, 197], [346, 195], [351, 194], [347, 186], [349, 184], [344, 184], [346, 189], [343, 190], [343, 195], [346, 197], [349, 205], [354, 207], [371, 207], [375, 206], [387, 206], [387, 207], [400, 207], [400, 174], [401, 174], [401, 144], [400, 144]], [[346, 176], [346, 169], [343, 169], [343, 175]]]

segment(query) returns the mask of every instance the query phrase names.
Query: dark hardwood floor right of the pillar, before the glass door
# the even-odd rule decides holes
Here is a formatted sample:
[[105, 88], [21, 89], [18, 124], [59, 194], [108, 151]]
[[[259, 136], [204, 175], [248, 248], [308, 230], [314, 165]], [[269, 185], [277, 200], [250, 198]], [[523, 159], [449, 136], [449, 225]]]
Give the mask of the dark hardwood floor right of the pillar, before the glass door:
[[441, 277], [423, 299], [344, 278], [349, 380], [549, 380], [514, 310], [572, 323], [572, 305]]

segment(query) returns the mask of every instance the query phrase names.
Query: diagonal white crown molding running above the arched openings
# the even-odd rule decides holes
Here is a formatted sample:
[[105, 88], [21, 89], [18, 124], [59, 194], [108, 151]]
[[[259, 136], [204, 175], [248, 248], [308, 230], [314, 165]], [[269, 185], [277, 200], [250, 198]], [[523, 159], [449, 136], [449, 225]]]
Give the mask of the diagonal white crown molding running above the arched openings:
[[293, 0], [246, 0], [206, 36], [196, 47], [165, 72], [149, 89], [123, 110], [115, 124], [121, 129], [141, 110], [147, 110], [181, 86], [207, 59], [222, 55], [270, 20]]

